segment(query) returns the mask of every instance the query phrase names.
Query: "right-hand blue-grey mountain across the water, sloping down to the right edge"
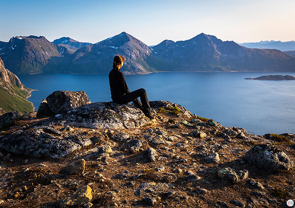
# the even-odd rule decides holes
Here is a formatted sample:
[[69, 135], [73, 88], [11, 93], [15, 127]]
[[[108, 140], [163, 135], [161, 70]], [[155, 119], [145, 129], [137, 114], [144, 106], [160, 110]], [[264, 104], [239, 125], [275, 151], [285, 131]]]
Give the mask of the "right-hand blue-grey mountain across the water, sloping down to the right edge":
[[201, 33], [186, 41], [165, 40], [152, 55], [183, 71], [294, 71], [295, 59], [281, 51], [249, 49]]

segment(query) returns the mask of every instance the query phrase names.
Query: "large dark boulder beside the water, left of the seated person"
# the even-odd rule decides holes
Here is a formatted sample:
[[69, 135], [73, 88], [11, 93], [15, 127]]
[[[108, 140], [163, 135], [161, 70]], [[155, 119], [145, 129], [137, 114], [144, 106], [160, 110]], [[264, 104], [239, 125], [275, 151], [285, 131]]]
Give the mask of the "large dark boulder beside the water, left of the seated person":
[[54, 91], [52, 94], [48, 95], [46, 101], [43, 100], [40, 104], [38, 116], [43, 116], [41, 112], [47, 112], [47, 108], [58, 114], [62, 111], [89, 103], [91, 102], [85, 91]]

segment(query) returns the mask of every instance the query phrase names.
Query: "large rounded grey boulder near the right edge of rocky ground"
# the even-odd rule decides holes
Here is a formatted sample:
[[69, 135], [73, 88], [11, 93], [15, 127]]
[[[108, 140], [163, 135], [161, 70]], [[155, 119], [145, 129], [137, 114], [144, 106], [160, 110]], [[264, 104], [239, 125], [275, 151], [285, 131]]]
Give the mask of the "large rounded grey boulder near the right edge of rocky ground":
[[256, 145], [245, 153], [245, 159], [268, 171], [289, 170], [294, 162], [280, 149], [269, 145]]

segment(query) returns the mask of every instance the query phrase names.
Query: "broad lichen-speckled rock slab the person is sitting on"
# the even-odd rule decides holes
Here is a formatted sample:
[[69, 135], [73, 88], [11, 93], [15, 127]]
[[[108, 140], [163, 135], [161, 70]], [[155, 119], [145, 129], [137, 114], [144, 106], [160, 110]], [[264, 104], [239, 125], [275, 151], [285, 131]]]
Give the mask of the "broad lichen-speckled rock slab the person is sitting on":
[[150, 120], [131, 104], [120, 105], [113, 102], [97, 102], [76, 107], [57, 114], [44, 123], [56, 123], [92, 129], [139, 128]]

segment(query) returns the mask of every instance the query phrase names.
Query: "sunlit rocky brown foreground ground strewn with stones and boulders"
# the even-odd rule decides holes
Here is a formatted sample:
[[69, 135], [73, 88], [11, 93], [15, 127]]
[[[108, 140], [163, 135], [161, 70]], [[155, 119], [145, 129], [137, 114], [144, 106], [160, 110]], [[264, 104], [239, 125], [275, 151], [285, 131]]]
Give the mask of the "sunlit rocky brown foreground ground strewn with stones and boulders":
[[23, 116], [0, 136], [0, 206], [284, 207], [295, 135], [249, 134], [151, 101]]

